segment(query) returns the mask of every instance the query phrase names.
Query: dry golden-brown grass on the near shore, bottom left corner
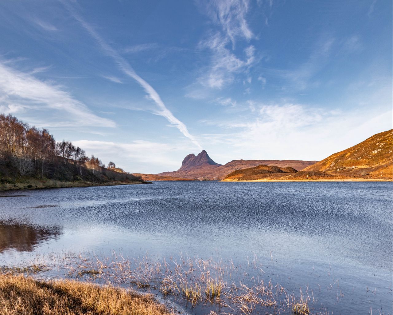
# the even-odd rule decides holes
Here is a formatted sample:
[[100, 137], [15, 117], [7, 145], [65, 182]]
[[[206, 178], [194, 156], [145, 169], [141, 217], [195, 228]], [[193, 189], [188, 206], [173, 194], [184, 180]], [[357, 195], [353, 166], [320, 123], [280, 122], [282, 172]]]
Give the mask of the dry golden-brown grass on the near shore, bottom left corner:
[[62, 280], [42, 282], [0, 274], [0, 315], [161, 315], [171, 314], [151, 295]]

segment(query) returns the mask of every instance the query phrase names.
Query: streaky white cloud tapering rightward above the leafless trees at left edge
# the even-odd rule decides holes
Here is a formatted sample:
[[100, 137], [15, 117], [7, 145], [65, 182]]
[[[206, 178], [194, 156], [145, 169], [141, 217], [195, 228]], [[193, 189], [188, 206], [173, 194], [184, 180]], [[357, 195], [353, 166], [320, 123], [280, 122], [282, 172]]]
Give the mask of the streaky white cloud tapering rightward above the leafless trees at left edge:
[[[33, 109], [41, 111], [40, 115], [43, 116], [57, 114], [57, 122], [62, 126], [115, 126], [112, 120], [98, 117], [61, 87], [42, 82], [31, 74], [20, 72], [3, 63], [0, 63], [0, 92], [3, 95], [0, 98], [0, 111], [5, 113], [16, 114], [24, 109]], [[51, 110], [50, 113], [47, 113], [48, 109]]]

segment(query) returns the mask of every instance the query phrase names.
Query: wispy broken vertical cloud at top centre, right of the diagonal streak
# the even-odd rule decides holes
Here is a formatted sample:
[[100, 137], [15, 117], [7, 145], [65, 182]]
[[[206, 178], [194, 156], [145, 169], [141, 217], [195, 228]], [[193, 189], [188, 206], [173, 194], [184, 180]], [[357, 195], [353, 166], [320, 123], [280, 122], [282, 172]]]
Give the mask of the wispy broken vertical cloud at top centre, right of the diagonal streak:
[[[246, 20], [249, 1], [213, 0], [198, 4], [219, 30], [211, 30], [198, 45], [201, 50], [211, 52], [211, 59], [209, 65], [200, 69], [196, 82], [188, 87], [187, 96], [193, 98], [200, 98], [201, 87], [222, 89], [230, 85], [237, 74], [245, 74], [257, 61], [255, 47], [248, 44], [254, 37]], [[247, 43], [241, 55], [239, 50], [235, 52], [238, 39]]]

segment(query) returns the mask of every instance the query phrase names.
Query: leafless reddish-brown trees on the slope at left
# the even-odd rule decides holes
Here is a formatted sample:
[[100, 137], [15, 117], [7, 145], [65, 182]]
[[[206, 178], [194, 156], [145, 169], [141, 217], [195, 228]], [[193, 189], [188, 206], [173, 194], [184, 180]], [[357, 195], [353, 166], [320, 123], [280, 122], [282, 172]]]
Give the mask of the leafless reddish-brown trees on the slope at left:
[[0, 158], [11, 161], [20, 176], [35, 174], [44, 177], [48, 172], [56, 172], [57, 164], [61, 163], [63, 168], [69, 165], [76, 167], [80, 180], [84, 169], [111, 180], [130, 178], [116, 174], [130, 175], [116, 168], [115, 163], [110, 162], [105, 169], [100, 159], [94, 155], [87, 157], [79, 146], [75, 147], [66, 140], [56, 142], [47, 129], [29, 126], [12, 115], [0, 114]]

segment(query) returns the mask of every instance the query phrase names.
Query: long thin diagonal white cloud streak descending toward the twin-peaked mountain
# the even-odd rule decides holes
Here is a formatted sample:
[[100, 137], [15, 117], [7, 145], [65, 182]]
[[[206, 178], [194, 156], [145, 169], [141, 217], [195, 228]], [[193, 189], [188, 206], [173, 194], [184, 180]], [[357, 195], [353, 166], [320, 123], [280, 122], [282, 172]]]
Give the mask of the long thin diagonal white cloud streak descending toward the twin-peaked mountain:
[[138, 84], [143, 87], [147, 96], [153, 100], [156, 105], [158, 106], [158, 111], [155, 112], [156, 115], [160, 115], [167, 119], [171, 124], [176, 126], [178, 130], [188, 139], [190, 139], [198, 148], [201, 148], [199, 142], [196, 138], [189, 133], [187, 127], [183, 122], [178, 120], [173, 113], [165, 106], [164, 102], [162, 101], [160, 95], [158, 95], [157, 91], [143, 78], [141, 78], [131, 67], [131, 65], [120, 56], [120, 54], [114, 50], [104, 39], [95, 31], [95, 29], [88, 24], [82, 17], [75, 11], [75, 9], [66, 1], [62, 1], [64, 6], [68, 9], [68, 11], [72, 14], [72, 16], [77, 20], [81, 26], [95, 39], [95, 41], [99, 44], [103, 52], [107, 54], [107, 56], [112, 57], [115, 63], [118, 65], [119, 70], [121, 70], [124, 74], [129, 76], [130, 78], [134, 79]]

